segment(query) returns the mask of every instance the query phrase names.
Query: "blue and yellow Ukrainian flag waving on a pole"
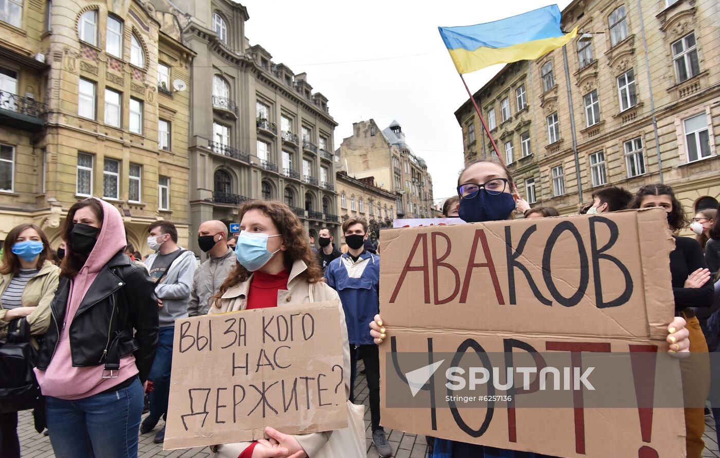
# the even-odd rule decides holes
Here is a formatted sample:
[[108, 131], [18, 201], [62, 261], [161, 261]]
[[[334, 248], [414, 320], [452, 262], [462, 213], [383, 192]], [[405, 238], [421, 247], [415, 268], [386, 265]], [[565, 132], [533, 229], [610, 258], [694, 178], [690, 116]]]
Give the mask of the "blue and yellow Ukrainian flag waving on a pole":
[[458, 73], [495, 63], [531, 60], [561, 47], [577, 35], [560, 30], [560, 9], [549, 5], [485, 24], [438, 27]]

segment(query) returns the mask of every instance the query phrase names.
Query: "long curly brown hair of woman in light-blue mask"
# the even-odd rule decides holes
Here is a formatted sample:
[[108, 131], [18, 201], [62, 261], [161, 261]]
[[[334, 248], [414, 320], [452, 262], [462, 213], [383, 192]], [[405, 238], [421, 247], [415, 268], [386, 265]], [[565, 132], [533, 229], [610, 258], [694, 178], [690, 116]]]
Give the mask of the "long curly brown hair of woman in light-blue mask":
[[[323, 279], [323, 270], [318, 266], [317, 256], [310, 249], [310, 243], [305, 235], [305, 227], [297, 215], [290, 210], [290, 207], [276, 200], [251, 200], [240, 205], [238, 220], [242, 221], [243, 215], [250, 210], [263, 212], [278, 229], [282, 236], [282, 243], [287, 248], [284, 252], [285, 269], [289, 271], [294, 261], [303, 261], [307, 269], [300, 274], [301, 277], [305, 277], [310, 283], [320, 282]], [[210, 298], [211, 301], [214, 301], [215, 307], [220, 308], [220, 297], [228, 289], [245, 282], [250, 277], [250, 274], [251, 272], [242, 264], [236, 263], [233, 270], [228, 274], [228, 278], [220, 285], [217, 294]]]

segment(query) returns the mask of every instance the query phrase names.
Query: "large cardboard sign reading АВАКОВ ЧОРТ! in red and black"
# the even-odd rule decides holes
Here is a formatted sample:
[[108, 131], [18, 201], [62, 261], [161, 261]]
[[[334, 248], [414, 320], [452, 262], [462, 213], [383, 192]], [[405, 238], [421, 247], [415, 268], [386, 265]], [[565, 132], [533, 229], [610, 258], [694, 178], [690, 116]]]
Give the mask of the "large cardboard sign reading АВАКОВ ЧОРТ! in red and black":
[[667, 351], [664, 211], [387, 229], [380, 246], [383, 426], [557, 457], [685, 456], [682, 410], [583, 408], [582, 391], [574, 408], [386, 404], [389, 377], [415, 369], [389, 373], [393, 352], [562, 351], [581, 365], [587, 351]]

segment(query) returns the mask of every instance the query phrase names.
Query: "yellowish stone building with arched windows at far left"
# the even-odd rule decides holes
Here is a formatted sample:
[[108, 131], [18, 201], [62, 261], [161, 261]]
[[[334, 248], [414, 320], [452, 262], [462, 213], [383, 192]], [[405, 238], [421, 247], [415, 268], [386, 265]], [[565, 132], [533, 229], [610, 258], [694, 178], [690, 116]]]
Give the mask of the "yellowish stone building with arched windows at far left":
[[68, 208], [96, 196], [118, 207], [141, 251], [159, 219], [186, 245], [189, 96], [171, 81], [187, 87], [192, 55], [173, 17], [148, 2], [7, 1], [2, 235], [33, 222], [55, 248]]

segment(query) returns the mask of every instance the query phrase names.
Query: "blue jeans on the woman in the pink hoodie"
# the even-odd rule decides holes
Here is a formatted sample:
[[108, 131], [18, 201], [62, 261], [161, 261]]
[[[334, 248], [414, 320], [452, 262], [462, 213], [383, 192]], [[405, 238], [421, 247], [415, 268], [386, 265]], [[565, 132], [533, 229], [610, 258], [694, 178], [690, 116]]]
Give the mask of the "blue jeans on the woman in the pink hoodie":
[[143, 414], [143, 385], [64, 400], [48, 396], [50, 443], [57, 458], [136, 458]]

